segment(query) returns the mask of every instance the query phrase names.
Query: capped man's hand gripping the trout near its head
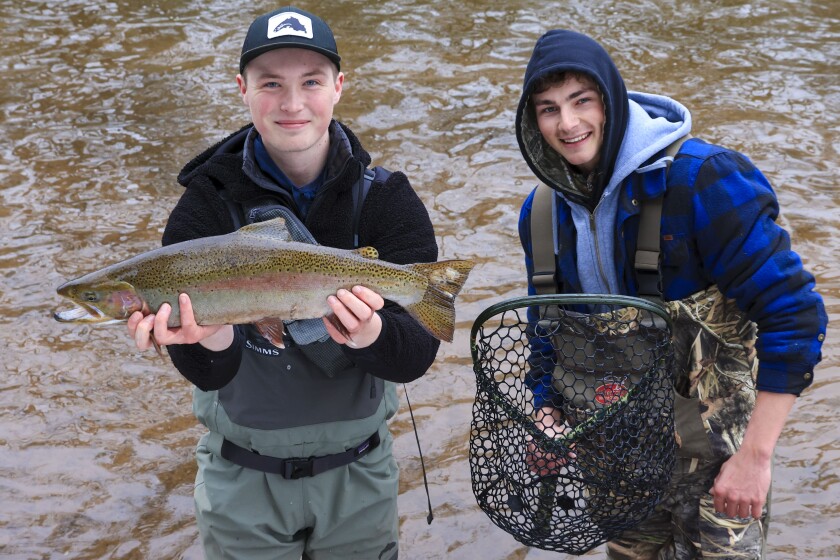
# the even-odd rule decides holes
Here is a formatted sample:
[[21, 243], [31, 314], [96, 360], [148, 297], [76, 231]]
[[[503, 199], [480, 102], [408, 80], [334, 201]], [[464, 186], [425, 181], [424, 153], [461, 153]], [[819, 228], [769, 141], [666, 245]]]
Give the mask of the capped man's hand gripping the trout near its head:
[[181, 326], [170, 328], [167, 325], [172, 314], [172, 306], [164, 303], [157, 313], [143, 316], [135, 311], [128, 318], [128, 334], [140, 350], [148, 350], [152, 345], [201, 343], [209, 350], [220, 351], [233, 342], [233, 327], [230, 325], [198, 325], [195, 322], [192, 302], [187, 294], [179, 294], [178, 307], [181, 310]]

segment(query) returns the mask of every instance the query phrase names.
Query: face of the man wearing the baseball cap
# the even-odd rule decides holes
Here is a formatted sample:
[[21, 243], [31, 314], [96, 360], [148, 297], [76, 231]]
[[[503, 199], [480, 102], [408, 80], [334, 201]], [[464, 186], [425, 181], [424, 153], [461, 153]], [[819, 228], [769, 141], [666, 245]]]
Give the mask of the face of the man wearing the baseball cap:
[[344, 74], [327, 57], [307, 49], [275, 49], [251, 60], [236, 82], [272, 159], [325, 157], [327, 130], [344, 84]]

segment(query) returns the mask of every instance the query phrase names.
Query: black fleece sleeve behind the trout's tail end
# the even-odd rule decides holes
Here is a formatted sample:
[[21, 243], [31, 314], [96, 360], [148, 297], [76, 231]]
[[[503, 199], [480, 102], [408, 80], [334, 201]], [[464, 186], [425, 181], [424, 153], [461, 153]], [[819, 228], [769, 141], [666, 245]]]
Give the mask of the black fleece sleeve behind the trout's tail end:
[[[376, 247], [381, 259], [396, 264], [434, 262], [438, 248], [429, 213], [403, 173], [374, 184], [361, 216], [362, 245]], [[371, 346], [344, 352], [376, 377], [405, 383], [423, 375], [434, 362], [440, 341], [408, 312], [386, 301], [380, 311], [382, 333]]]

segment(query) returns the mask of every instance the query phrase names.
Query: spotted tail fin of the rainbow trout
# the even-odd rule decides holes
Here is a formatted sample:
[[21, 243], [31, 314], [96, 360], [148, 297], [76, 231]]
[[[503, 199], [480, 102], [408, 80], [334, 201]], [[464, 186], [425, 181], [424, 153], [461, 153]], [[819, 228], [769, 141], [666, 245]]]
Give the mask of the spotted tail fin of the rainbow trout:
[[451, 260], [412, 265], [429, 280], [423, 299], [406, 310], [435, 338], [452, 342], [455, 334], [455, 296], [461, 291], [475, 263]]

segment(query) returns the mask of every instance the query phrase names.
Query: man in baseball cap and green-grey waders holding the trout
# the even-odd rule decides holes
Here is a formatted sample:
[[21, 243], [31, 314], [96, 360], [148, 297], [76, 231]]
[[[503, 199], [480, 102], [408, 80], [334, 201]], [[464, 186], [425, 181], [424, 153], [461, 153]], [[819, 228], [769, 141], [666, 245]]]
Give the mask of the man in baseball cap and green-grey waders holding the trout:
[[[293, 7], [260, 16], [236, 81], [253, 125], [184, 168], [164, 245], [234, 231], [222, 196], [258, 207], [270, 195], [319, 244], [352, 249], [352, 190], [370, 156], [333, 120], [344, 74], [327, 24]], [[374, 179], [359, 239], [393, 263], [437, 258], [428, 213], [402, 173]], [[423, 375], [439, 341], [371, 289], [327, 299], [332, 340], [312, 344], [340, 345], [330, 354], [340, 367], [316, 363], [288, 336], [279, 349], [253, 325], [199, 326], [185, 294], [179, 328], [167, 327], [168, 305], [129, 319], [139, 348], [153, 335], [197, 386], [194, 410], [210, 430], [197, 449], [195, 489], [208, 558], [397, 558], [393, 382]]]

